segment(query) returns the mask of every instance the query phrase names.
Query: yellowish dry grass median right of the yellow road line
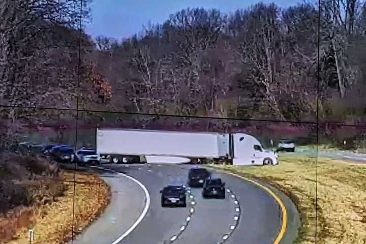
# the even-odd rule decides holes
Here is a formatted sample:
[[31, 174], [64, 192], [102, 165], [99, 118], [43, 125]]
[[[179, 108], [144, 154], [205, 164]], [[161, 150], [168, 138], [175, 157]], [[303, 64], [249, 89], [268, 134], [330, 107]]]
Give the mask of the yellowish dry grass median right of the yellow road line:
[[215, 166], [270, 182], [296, 204], [301, 217], [296, 243], [315, 243], [316, 182], [318, 181], [317, 243], [366, 243], [366, 165], [320, 158], [280, 156], [271, 167]]

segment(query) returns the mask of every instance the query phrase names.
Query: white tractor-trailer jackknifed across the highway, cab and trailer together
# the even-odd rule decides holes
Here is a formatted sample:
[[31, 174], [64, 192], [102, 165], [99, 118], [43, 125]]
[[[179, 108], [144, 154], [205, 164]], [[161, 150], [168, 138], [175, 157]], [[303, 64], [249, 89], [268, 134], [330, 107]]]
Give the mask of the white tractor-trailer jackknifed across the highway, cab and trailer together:
[[97, 128], [97, 154], [111, 163], [145, 162], [146, 156], [225, 160], [234, 165], [276, 165], [277, 154], [243, 133]]

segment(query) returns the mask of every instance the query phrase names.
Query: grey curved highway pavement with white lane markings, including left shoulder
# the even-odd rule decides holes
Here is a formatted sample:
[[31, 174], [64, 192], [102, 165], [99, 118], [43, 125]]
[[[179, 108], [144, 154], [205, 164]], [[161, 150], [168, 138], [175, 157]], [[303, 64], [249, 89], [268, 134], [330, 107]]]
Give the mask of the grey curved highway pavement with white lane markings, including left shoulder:
[[[101, 167], [123, 172], [138, 179], [147, 188], [150, 196], [146, 216], [126, 238], [118, 243], [165, 244], [172, 243], [171, 240], [174, 240], [173, 243], [178, 244], [224, 242], [272, 244], [281, 229], [282, 212], [277, 201], [260, 187], [240, 178], [212, 170], [212, 177], [221, 177], [226, 182], [226, 188], [231, 190], [230, 193], [227, 192], [226, 199], [204, 199], [201, 196], [202, 189], [190, 189], [194, 205], [189, 202], [186, 208], [162, 208], [160, 190], [167, 185], [186, 185], [188, 170], [192, 166], [103, 164]], [[107, 174], [113, 175], [113, 173]], [[117, 174], [114, 173], [114, 175]], [[120, 182], [136, 191], [135, 195], [132, 194], [135, 197], [121, 198], [119, 203], [126, 205], [124, 201], [127, 202], [134, 211], [125, 211], [129, 215], [128, 218], [123, 216], [114, 216], [114, 218], [137, 220], [142, 211], [141, 202], [143, 203], [144, 198], [142, 189], [137, 189], [137, 184], [132, 186], [134, 182], [131, 180], [127, 182], [127, 179], [120, 178], [119, 181], [107, 179], [107, 181], [112, 184], [112, 189], [115, 191], [118, 186], [122, 187]], [[125, 188], [126, 185], [124, 185]], [[127, 230], [126, 223], [120, 223], [120, 225], [110, 223], [110, 218], [113, 218], [111, 216], [114, 212], [113, 207], [118, 206], [118, 201], [112, 194], [112, 206], [110, 205], [106, 213], [73, 242], [112, 244], [118, 235], [123, 234]], [[190, 212], [192, 207], [193, 213]], [[115, 215], [123, 215], [122, 208], [115, 210]], [[187, 219], [189, 216], [190, 219]], [[238, 217], [239, 220], [236, 221]], [[97, 236], [100, 238], [96, 239]], [[292, 243], [292, 240], [281, 243]]]

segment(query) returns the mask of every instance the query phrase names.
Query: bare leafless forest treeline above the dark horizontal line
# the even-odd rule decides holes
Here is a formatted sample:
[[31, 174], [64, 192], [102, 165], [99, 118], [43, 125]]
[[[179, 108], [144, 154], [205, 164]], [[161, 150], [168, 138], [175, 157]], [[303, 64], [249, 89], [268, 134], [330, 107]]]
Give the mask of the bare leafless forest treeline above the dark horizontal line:
[[[2, 105], [365, 122], [362, 1], [188, 8], [124, 40], [79, 32], [90, 2], [1, 1]], [[67, 113], [42, 111], [1, 108], [12, 121]]]

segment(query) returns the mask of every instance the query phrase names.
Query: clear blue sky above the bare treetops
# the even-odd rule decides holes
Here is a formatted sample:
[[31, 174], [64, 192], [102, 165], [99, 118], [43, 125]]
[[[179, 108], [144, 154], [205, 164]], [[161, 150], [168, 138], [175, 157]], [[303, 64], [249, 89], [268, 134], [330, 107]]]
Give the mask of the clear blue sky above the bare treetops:
[[[256, 4], [257, 0], [93, 0], [93, 19], [86, 32], [93, 37], [104, 35], [117, 39], [129, 37], [142, 30], [150, 20], [162, 23], [169, 14], [185, 8], [216, 8], [222, 12], [233, 12]], [[296, 5], [299, 0], [266, 0], [281, 7]]]

